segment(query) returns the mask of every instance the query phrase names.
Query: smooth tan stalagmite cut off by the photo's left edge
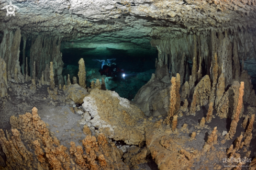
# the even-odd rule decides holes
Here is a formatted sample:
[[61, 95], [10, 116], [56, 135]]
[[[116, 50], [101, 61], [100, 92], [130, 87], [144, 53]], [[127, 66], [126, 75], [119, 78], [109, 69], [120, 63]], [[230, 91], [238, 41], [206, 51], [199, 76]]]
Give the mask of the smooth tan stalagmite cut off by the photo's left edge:
[[7, 83], [6, 63], [4, 59], [2, 59], [0, 56], [0, 96], [1, 97], [5, 97], [5, 95], [7, 94], [7, 88], [8, 88], [8, 83]]

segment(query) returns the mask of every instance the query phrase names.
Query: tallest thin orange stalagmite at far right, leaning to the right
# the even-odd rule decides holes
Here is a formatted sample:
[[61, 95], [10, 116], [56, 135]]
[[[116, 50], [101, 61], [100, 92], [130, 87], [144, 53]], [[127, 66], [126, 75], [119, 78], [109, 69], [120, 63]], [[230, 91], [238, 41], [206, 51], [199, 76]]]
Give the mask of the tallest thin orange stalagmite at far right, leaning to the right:
[[228, 133], [225, 135], [226, 140], [232, 139], [236, 133], [237, 123], [239, 121], [239, 117], [240, 117], [240, 113], [243, 105], [243, 88], [244, 88], [244, 85], [243, 85], [243, 82], [241, 82], [240, 88], [239, 88], [239, 97], [238, 97], [236, 112], [231, 122], [230, 129]]

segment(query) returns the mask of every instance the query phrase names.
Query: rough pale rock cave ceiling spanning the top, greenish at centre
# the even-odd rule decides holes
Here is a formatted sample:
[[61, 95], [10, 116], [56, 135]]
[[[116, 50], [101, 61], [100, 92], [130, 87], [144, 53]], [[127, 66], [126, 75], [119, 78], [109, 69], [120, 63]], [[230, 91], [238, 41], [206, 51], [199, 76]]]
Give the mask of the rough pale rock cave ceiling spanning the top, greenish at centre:
[[[0, 1], [0, 7], [10, 1]], [[0, 10], [0, 30], [21, 29], [62, 37], [62, 49], [149, 49], [150, 40], [183, 37], [212, 29], [253, 29], [256, 1], [78, 1], [13, 0], [16, 16]], [[106, 45], [107, 44], [107, 45]], [[136, 51], [135, 50], [135, 51]], [[148, 50], [150, 51], [150, 50]]]

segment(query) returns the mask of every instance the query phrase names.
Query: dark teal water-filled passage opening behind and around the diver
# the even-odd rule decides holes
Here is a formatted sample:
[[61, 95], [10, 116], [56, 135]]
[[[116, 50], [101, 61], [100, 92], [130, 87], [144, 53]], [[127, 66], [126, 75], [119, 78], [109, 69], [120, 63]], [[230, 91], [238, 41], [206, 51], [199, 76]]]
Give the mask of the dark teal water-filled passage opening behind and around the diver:
[[[70, 44], [70, 48], [66, 48]], [[115, 45], [116, 46], [116, 45]], [[151, 47], [148, 43], [146, 48], [116, 48], [113, 44], [98, 44], [92, 48], [79, 47], [76, 48], [74, 42], [62, 42], [61, 46], [62, 61], [64, 62], [62, 75], [70, 80], [79, 72], [79, 60], [84, 59], [86, 67], [86, 86], [90, 87], [92, 81], [102, 77], [105, 78], [106, 88], [114, 90], [120, 97], [132, 100], [138, 90], [146, 84], [152, 73], [155, 72], [155, 59], [158, 58], [157, 49]], [[116, 63], [119, 69], [124, 70], [124, 77], [108, 77], [101, 75], [101, 62], [93, 61], [92, 59], [105, 60], [116, 59], [112, 63]], [[106, 63], [105, 63], [106, 64]]]

